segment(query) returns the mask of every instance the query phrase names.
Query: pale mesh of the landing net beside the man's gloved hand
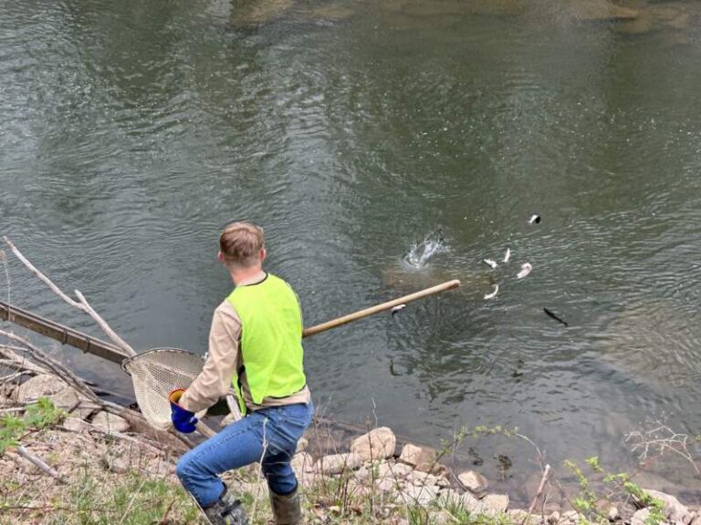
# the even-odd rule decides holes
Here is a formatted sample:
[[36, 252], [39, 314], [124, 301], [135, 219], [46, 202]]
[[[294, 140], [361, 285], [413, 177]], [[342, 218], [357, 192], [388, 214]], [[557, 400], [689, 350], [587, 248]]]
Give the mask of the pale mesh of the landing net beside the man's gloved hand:
[[168, 395], [187, 388], [204, 366], [204, 357], [178, 348], [154, 348], [125, 360], [121, 367], [131, 376], [143, 417], [154, 427], [171, 426]]

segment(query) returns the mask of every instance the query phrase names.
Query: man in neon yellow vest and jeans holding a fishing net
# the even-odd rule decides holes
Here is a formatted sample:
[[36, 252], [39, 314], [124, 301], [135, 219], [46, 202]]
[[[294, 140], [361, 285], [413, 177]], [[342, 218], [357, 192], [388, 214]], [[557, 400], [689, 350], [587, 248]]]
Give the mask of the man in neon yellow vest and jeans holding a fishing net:
[[242, 419], [187, 452], [176, 472], [213, 525], [246, 525], [246, 512], [218, 478], [261, 461], [277, 525], [301, 522], [298, 483], [290, 459], [314, 407], [302, 366], [302, 316], [288, 283], [263, 271], [263, 231], [248, 222], [226, 227], [219, 261], [235, 284], [214, 311], [209, 354], [187, 390], [170, 395], [173, 426], [194, 431], [195, 412], [233, 386]]

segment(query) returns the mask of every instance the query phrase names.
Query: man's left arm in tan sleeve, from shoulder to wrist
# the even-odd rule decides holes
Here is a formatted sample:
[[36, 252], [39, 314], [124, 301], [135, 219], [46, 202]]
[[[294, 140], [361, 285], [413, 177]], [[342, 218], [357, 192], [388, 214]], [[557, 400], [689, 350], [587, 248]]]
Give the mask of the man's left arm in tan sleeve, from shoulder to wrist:
[[236, 374], [241, 320], [234, 306], [224, 302], [214, 310], [209, 331], [209, 353], [204, 368], [180, 398], [181, 407], [199, 412], [226, 396]]

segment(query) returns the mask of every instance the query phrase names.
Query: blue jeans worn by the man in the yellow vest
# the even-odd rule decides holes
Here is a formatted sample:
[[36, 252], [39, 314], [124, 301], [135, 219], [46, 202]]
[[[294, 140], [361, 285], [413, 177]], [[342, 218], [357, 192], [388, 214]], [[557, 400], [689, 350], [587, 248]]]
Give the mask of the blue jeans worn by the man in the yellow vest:
[[269, 489], [276, 494], [289, 494], [297, 489], [297, 478], [289, 462], [313, 415], [311, 401], [309, 405], [299, 403], [256, 410], [187, 452], [178, 461], [175, 473], [183, 487], [205, 508], [214, 504], [224, 491], [219, 474], [262, 458]]

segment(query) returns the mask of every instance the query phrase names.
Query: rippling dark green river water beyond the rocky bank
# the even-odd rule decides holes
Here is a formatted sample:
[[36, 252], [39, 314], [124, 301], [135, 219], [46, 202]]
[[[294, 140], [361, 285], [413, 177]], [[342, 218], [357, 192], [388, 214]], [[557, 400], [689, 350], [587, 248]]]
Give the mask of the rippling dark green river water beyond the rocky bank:
[[[627, 6], [0, 0], [0, 232], [140, 349], [204, 353], [236, 219], [308, 325], [459, 278], [307, 340], [321, 411], [434, 447], [517, 426], [559, 468], [633, 469], [627, 433], [701, 434], [701, 5]], [[98, 334], [9, 270], [17, 305]], [[539, 477], [518, 438], [456, 457]], [[685, 460], [642, 476], [699, 498]]]

